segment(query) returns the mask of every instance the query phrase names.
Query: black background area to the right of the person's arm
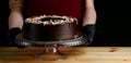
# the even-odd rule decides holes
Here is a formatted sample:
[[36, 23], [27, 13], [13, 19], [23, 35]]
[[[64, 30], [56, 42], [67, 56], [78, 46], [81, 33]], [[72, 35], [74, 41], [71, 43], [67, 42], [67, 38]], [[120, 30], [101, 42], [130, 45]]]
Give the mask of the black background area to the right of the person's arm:
[[130, 5], [128, 0], [95, 0], [97, 27], [92, 46], [131, 46]]

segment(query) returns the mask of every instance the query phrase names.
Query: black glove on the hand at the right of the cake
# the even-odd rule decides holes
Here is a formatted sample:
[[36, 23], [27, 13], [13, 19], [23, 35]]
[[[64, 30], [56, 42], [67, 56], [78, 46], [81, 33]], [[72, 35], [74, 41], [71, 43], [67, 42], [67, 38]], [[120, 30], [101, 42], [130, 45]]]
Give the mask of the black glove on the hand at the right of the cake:
[[81, 32], [85, 36], [86, 41], [88, 43], [93, 42], [93, 38], [95, 35], [95, 27], [96, 27], [95, 24], [90, 24], [81, 28]]

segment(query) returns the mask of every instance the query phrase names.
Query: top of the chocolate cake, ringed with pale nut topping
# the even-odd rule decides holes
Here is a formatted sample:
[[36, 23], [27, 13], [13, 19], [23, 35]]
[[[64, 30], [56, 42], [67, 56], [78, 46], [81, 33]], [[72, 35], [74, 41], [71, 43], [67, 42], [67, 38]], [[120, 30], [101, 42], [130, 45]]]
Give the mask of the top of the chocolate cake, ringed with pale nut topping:
[[64, 23], [78, 23], [75, 17], [71, 16], [60, 16], [60, 15], [39, 15], [39, 16], [32, 16], [25, 20], [25, 23], [33, 23], [33, 24], [44, 24], [44, 25], [58, 25]]

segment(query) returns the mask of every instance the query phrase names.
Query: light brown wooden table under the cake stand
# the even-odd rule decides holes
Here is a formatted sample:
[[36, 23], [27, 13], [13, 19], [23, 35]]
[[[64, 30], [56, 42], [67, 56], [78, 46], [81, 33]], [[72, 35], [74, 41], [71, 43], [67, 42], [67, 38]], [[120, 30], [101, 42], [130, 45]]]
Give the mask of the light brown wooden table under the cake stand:
[[38, 61], [35, 54], [44, 48], [16, 47], [0, 48], [0, 63], [131, 63], [130, 47], [70, 47], [59, 48], [61, 53], [68, 55], [62, 61]]

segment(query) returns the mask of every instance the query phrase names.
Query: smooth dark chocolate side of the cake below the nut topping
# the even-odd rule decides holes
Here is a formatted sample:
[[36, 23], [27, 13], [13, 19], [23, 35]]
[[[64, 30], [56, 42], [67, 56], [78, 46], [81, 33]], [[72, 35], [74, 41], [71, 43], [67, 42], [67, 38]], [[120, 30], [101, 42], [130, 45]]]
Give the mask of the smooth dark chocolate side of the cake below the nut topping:
[[44, 25], [26, 23], [23, 37], [35, 41], [61, 41], [74, 39], [78, 35], [76, 23]]

